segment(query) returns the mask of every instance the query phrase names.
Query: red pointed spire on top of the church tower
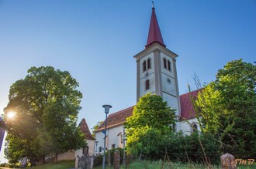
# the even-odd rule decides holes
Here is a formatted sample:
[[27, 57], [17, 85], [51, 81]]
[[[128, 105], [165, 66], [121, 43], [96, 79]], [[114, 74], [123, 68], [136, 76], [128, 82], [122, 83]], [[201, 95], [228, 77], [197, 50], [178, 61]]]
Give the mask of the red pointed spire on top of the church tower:
[[157, 15], [154, 12], [154, 6], [153, 6], [151, 20], [150, 20], [150, 29], [147, 35], [147, 45], [145, 47], [147, 48], [154, 42], [158, 42], [165, 47], [164, 41], [161, 35], [161, 31], [157, 22]]

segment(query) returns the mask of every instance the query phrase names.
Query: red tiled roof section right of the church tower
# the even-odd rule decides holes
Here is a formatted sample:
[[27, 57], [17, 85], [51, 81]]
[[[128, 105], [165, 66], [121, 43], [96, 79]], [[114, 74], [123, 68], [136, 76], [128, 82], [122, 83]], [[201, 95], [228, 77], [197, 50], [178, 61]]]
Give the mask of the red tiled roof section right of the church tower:
[[182, 110], [180, 120], [185, 120], [185, 119], [189, 120], [189, 119], [195, 118], [195, 110], [191, 102], [191, 98], [196, 99], [199, 91], [201, 91], [201, 89], [194, 90], [190, 93], [185, 93], [180, 96], [180, 103], [181, 103], [181, 110]]

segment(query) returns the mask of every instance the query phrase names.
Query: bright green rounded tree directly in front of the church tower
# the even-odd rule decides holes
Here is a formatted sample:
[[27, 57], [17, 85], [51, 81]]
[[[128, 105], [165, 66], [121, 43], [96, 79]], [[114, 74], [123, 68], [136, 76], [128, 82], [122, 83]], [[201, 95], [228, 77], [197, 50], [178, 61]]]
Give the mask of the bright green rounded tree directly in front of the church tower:
[[127, 150], [132, 154], [157, 153], [164, 134], [173, 131], [175, 110], [161, 96], [146, 94], [134, 107], [133, 116], [126, 119]]

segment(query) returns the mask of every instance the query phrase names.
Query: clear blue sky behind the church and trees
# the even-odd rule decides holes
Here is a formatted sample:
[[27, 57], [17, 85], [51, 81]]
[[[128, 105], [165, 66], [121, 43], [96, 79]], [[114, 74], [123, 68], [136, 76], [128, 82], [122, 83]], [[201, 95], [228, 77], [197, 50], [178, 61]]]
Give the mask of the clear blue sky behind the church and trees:
[[[215, 79], [234, 59], [256, 61], [255, 0], [156, 0], [164, 43], [178, 54], [179, 93]], [[151, 1], [0, 0], [0, 114], [9, 88], [31, 66], [68, 71], [83, 94], [78, 123], [92, 128], [136, 104], [136, 59], [144, 50]], [[3, 159], [3, 148], [0, 161]]]

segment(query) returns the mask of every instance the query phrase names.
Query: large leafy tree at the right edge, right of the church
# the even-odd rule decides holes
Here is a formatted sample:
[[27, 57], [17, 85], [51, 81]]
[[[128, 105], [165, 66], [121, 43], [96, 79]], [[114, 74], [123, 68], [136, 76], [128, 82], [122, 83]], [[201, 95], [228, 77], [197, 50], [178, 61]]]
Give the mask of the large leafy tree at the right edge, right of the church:
[[199, 94], [205, 131], [217, 134], [223, 151], [255, 157], [256, 66], [242, 59], [227, 63]]

